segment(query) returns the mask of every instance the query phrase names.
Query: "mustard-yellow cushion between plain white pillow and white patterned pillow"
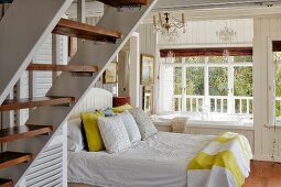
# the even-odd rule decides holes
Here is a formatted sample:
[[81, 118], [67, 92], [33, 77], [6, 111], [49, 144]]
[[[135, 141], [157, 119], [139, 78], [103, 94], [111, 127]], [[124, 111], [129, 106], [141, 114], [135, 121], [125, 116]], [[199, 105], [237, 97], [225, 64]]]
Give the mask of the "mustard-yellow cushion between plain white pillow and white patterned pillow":
[[102, 117], [99, 112], [82, 113], [82, 121], [85, 129], [88, 148], [90, 152], [105, 150], [105, 145], [98, 129], [98, 118]]

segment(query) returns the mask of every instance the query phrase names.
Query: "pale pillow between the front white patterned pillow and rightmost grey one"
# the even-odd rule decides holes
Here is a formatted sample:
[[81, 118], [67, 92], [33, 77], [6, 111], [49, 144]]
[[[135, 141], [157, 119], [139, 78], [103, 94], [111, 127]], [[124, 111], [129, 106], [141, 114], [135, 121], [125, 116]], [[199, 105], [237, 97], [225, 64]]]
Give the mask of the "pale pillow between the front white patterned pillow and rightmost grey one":
[[131, 113], [126, 110], [119, 116], [125, 124], [125, 128], [127, 130], [131, 143], [141, 141], [140, 130]]

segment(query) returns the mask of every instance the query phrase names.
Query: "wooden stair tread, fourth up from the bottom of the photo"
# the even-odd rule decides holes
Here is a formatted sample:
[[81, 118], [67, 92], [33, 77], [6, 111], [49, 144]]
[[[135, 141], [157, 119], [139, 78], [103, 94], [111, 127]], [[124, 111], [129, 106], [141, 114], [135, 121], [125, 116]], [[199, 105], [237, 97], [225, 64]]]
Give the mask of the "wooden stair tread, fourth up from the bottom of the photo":
[[55, 106], [75, 102], [74, 97], [36, 97], [36, 98], [24, 98], [24, 99], [10, 99], [6, 100], [0, 106], [0, 111], [28, 109], [43, 106]]

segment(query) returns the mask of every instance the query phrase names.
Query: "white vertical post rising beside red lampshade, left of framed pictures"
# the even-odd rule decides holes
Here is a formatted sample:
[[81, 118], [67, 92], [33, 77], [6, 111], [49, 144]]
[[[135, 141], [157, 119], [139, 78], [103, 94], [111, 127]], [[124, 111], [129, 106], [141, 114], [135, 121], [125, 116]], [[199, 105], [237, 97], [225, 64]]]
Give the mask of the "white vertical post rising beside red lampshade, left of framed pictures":
[[133, 108], [140, 107], [140, 38], [133, 33], [130, 38], [130, 84], [129, 96]]

